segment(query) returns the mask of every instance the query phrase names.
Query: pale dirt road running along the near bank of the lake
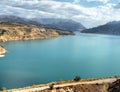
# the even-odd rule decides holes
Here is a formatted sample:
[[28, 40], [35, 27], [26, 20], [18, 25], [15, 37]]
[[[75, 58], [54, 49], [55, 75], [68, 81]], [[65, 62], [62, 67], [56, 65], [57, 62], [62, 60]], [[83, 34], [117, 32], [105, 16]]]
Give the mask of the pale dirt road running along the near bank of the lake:
[[[74, 83], [65, 83], [65, 84], [59, 84], [59, 85], [54, 85], [54, 88], [57, 87], [66, 87], [66, 86], [74, 86], [74, 85], [80, 85], [80, 84], [102, 84], [102, 83], [112, 83], [116, 81], [116, 78], [108, 78], [108, 79], [101, 79], [101, 80], [94, 80], [94, 81], [86, 81], [86, 82], [74, 82]], [[49, 86], [44, 86], [44, 87], [37, 87], [37, 88], [29, 88], [29, 89], [16, 89], [13, 90], [12, 92], [33, 92], [33, 91], [40, 91], [40, 90], [45, 90], [48, 89]], [[9, 92], [9, 91], [8, 91]]]

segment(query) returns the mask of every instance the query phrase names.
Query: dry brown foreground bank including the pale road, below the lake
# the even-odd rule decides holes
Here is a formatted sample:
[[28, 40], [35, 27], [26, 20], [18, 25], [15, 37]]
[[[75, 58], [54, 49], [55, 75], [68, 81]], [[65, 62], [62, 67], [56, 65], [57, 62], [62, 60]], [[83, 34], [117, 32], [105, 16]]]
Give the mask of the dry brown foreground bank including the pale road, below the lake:
[[114, 89], [114, 86], [111, 86], [110, 88], [109, 86], [115, 84], [116, 81], [119, 82], [119, 77], [87, 79], [79, 81], [60, 81], [49, 84], [33, 85], [25, 88], [12, 89], [8, 90], [8, 92], [112, 92], [109, 91], [109, 89]]

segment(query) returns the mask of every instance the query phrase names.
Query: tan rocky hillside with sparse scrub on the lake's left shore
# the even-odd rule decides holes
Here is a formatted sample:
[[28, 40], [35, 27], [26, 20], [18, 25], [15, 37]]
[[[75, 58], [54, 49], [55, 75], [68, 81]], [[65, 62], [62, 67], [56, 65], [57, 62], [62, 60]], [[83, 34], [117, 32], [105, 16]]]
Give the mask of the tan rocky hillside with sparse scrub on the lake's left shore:
[[57, 29], [48, 29], [35, 25], [20, 24], [16, 22], [0, 22], [0, 42], [12, 40], [29, 40], [58, 37], [69, 35], [72, 32], [64, 32]]

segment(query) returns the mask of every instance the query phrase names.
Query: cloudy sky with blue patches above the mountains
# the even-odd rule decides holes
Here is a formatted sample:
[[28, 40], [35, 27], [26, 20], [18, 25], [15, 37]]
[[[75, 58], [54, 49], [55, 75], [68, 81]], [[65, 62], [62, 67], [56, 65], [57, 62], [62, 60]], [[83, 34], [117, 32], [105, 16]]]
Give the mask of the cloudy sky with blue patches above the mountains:
[[67, 18], [92, 28], [120, 20], [120, 0], [1, 0], [0, 15]]

